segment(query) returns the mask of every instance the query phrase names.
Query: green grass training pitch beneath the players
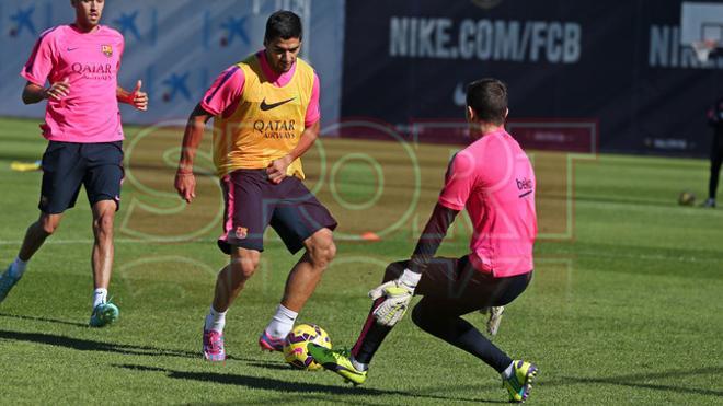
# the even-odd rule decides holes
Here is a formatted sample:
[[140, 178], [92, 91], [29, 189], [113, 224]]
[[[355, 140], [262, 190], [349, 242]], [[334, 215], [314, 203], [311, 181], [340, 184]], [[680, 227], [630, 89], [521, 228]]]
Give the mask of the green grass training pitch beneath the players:
[[[202, 360], [200, 328], [215, 272], [221, 200], [211, 176], [198, 199], [174, 197], [181, 134], [126, 129], [127, 182], [116, 222], [111, 294], [120, 320], [85, 327], [90, 315], [90, 211], [81, 193], [23, 280], [0, 304], [2, 404], [415, 404], [504, 403], [498, 376], [479, 360], [405, 320], [367, 383], [289, 369], [256, 338], [296, 260], [275, 234], [262, 267], [229, 311], [229, 360]], [[41, 173], [10, 171], [44, 150], [37, 124], [0, 120], [0, 262], [12, 260], [37, 217]], [[352, 345], [366, 292], [386, 263], [413, 248], [455, 148], [324, 140], [307, 159], [308, 184], [340, 220], [337, 258], [301, 322]], [[570, 161], [533, 153], [540, 241], [531, 287], [508, 306], [495, 338], [540, 376], [528, 403], [723, 404], [723, 210], [679, 207], [702, 197], [708, 164], [600, 155]], [[319, 162], [324, 162], [320, 164]], [[572, 163], [570, 163], [572, 162]], [[206, 158], [200, 171], [209, 170]], [[333, 185], [333, 186], [332, 186]], [[383, 186], [383, 187], [380, 187]], [[379, 242], [358, 241], [372, 231]], [[459, 220], [440, 254], [467, 252]], [[479, 314], [468, 316], [480, 326]]]

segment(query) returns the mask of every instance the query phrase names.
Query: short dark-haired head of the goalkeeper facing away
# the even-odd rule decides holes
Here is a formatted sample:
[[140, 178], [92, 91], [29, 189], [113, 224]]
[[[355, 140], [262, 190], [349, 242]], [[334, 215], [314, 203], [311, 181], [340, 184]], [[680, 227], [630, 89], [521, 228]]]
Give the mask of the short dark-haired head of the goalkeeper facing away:
[[507, 85], [493, 78], [475, 80], [467, 85], [467, 105], [482, 121], [502, 125], [507, 114]]

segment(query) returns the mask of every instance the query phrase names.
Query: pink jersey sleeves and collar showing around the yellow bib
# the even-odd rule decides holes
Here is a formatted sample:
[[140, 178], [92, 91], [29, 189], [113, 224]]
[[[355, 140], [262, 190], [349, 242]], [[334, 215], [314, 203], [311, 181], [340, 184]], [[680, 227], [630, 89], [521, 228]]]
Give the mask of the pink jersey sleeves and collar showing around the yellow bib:
[[[291, 66], [288, 72], [278, 74], [274, 72], [268, 66], [266, 60], [266, 53], [260, 50], [256, 53], [256, 58], [261, 61], [261, 69], [266, 77], [275, 86], [283, 88], [287, 85], [294, 78], [296, 72], [296, 63]], [[236, 107], [241, 101], [241, 95], [243, 94], [243, 84], [245, 83], [245, 78], [243, 71], [238, 66], [232, 66], [221, 72], [218, 78], [214, 81], [214, 84], [206, 91], [204, 98], [200, 101], [200, 106], [208, 113], [218, 116], [228, 117], [236, 111]], [[309, 101], [309, 106], [307, 107], [307, 116], [303, 120], [306, 127], [311, 126], [312, 124], [319, 121], [321, 117], [321, 112], [319, 109], [319, 77], [314, 72], [313, 74], [313, 88], [311, 89], [311, 100]]]

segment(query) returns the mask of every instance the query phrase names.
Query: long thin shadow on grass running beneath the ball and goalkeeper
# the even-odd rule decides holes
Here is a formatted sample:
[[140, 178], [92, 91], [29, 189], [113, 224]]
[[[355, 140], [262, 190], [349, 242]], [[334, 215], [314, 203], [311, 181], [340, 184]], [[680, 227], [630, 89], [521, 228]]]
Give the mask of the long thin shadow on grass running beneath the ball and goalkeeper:
[[[323, 384], [309, 383], [309, 382], [291, 382], [291, 381], [276, 380], [273, 378], [248, 376], [248, 375], [237, 375], [237, 374], [216, 373], [216, 372], [174, 371], [165, 368], [135, 366], [135, 364], [122, 364], [122, 366], [115, 364], [114, 367], [123, 368], [131, 371], [139, 371], [139, 372], [162, 372], [165, 373], [169, 378], [179, 379], [179, 380], [220, 383], [220, 384], [234, 385], [234, 386], [245, 386], [249, 388], [256, 388], [256, 390], [277, 391], [283, 393], [300, 393], [305, 395], [313, 394], [313, 393], [326, 393], [334, 395], [365, 395], [365, 396], [392, 395], [392, 396], [405, 396], [405, 397], [427, 398], [427, 399], [436, 399], [436, 401], [447, 401], [447, 402], [455, 401], [455, 402], [475, 402], [475, 403], [506, 403], [502, 401], [470, 399], [470, 398], [461, 398], [454, 396], [440, 396], [440, 395], [403, 392], [403, 391], [376, 390], [376, 388], [363, 387], [363, 386], [362, 387], [333, 386], [333, 385], [323, 385]], [[355, 402], [355, 404], [360, 404], [360, 403]]]

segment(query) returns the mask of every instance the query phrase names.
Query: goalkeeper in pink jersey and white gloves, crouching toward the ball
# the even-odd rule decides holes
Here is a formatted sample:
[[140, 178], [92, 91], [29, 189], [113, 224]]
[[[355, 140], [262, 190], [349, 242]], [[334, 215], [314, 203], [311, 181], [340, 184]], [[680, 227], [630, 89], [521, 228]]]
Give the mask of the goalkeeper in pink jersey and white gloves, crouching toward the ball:
[[[362, 384], [371, 358], [410, 304], [423, 330], [478, 357], [501, 375], [512, 402], [524, 402], [537, 367], [510, 359], [461, 315], [503, 306], [532, 277], [537, 235], [535, 173], [517, 141], [505, 131], [507, 88], [482, 79], [467, 89], [467, 119], [474, 141], [451, 160], [445, 186], [410, 260], [389, 265], [383, 283], [369, 292], [369, 316], [351, 356], [309, 345], [325, 369]], [[474, 231], [470, 253], [435, 257], [455, 217], [467, 209]]]

